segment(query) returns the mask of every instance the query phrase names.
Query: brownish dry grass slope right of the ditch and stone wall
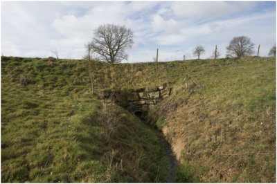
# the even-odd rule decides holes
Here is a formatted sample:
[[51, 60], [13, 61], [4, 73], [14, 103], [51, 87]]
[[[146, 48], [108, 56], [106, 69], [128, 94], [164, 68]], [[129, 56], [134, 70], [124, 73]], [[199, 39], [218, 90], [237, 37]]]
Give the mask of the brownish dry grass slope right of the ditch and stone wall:
[[152, 111], [177, 182], [276, 182], [276, 60], [199, 61]]

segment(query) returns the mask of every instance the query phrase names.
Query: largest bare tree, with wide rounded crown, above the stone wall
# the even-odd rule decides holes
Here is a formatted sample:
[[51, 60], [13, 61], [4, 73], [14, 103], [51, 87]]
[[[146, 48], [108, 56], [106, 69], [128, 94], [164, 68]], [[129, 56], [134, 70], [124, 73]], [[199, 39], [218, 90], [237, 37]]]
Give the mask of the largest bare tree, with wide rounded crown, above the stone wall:
[[125, 50], [134, 44], [133, 32], [125, 26], [103, 24], [93, 33], [91, 52], [96, 53], [102, 62], [116, 63], [127, 59]]

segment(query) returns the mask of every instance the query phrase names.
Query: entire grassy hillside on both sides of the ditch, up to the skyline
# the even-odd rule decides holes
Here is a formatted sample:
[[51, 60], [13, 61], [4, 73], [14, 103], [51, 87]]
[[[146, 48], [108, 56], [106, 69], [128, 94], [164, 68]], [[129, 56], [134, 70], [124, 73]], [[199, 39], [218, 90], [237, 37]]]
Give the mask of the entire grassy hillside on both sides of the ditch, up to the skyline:
[[172, 95], [148, 118], [182, 163], [175, 181], [276, 181], [275, 57], [158, 64], [1, 57], [1, 181], [167, 181], [157, 136], [98, 95], [164, 83]]

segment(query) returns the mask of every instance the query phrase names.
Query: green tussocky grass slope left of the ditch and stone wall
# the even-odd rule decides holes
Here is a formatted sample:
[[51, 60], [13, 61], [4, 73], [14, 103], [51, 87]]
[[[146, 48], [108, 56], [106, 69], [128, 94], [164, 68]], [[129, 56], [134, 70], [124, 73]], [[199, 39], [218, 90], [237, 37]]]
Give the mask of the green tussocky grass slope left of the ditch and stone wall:
[[166, 181], [157, 136], [87, 81], [83, 61], [1, 57], [2, 182]]

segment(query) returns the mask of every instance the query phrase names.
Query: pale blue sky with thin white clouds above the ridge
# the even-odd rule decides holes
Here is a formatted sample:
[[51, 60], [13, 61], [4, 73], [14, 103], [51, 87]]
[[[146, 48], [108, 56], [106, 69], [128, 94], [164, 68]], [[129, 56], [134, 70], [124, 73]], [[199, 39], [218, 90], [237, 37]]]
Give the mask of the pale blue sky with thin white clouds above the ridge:
[[220, 57], [246, 36], [267, 56], [276, 44], [276, 1], [1, 1], [1, 55], [80, 59], [101, 24], [126, 26], [134, 45], [123, 62]]

